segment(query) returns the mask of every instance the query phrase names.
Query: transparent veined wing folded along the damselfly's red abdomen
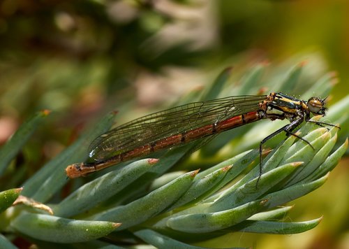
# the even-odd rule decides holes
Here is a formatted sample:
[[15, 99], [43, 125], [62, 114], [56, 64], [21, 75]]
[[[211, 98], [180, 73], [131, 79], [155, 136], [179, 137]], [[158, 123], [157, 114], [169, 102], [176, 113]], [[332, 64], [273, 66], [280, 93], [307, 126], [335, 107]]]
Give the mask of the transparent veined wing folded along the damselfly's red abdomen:
[[266, 96], [225, 97], [152, 113], [98, 136], [89, 147], [89, 157], [104, 161], [163, 138], [257, 111], [258, 103], [264, 99]]

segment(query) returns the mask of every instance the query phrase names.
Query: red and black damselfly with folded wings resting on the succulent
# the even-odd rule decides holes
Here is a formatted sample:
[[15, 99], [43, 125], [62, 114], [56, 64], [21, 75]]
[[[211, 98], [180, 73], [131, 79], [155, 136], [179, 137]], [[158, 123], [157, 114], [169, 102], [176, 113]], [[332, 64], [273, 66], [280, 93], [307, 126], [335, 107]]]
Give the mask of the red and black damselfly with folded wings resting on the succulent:
[[225, 97], [170, 108], [127, 122], [98, 136], [89, 146], [89, 160], [69, 165], [66, 174], [69, 178], [86, 176], [120, 162], [204, 139], [262, 119], [289, 120], [288, 125], [260, 142], [261, 166], [262, 145], [282, 131], [311, 146], [308, 141], [292, 133], [297, 126], [304, 121], [320, 126], [335, 126], [310, 120], [311, 114], [325, 115], [325, 100], [312, 97], [304, 101], [272, 92], [269, 95]]

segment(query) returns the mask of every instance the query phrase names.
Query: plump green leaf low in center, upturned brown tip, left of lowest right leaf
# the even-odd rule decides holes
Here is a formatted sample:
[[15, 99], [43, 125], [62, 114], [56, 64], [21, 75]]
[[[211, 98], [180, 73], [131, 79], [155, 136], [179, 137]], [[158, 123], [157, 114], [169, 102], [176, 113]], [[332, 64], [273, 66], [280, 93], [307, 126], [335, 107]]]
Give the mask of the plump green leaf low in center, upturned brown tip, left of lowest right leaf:
[[179, 215], [170, 218], [168, 227], [187, 233], [207, 233], [231, 227], [265, 208], [267, 201], [251, 201], [237, 208], [215, 212]]

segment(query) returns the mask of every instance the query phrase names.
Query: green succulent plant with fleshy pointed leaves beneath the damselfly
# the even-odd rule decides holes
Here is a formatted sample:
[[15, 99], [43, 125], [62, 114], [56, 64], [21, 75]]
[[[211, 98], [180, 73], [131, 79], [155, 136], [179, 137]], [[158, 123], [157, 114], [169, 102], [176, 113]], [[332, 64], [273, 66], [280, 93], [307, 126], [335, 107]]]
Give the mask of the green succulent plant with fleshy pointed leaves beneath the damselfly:
[[[303, 65], [293, 67], [277, 86], [279, 88], [274, 85], [273, 89], [290, 92], [297, 84], [303, 84], [300, 78], [303, 68]], [[245, 74], [240, 84], [233, 86], [234, 92], [255, 92], [264, 71], [265, 65], [255, 66]], [[229, 77], [230, 70], [223, 71], [200, 99], [218, 97], [227, 87], [231, 88], [231, 85], [226, 85]], [[268, 80], [272, 85], [279, 78], [270, 76]], [[328, 73], [315, 83], [311, 82], [313, 85], [307, 90], [303, 84], [302, 98], [309, 98], [315, 89], [320, 95], [327, 94], [332, 80], [333, 75]], [[186, 100], [197, 98], [193, 94]], [[349, 97], [339, 101], [326, 116], [326, 120], [340, 123], [344, 134], [348, 133], [348, 102]], [[34, 115], [3, 145], [0, 150], [2, 176], [15, 178], [15, 172], [8, 167], [11, 160], [48, 114], [43, 111]], [[325, 183], [329, 171], [334, 169], [348, 146], [345, 138], [337, 142], [338, 128], [327, 129], [306, 123], [297, 132], [313, 148], [295, 136], [288, 137], [263, 159], [259, 178], [258, 150], [247, 148], [255, 147], [260, 136], [265, 136], [261, 130], [267, 134], [274, 131], [276, 122], [251, 125], [228, 132], [224, 138], [218, 137], [203, 148], [197, 158], [191, 159], [189, 163], [193, 162], [195, 166], [210, 166], [200, 173], [198, 170], [187, 173], [173, 171], [197, 146], [190, 143], [170, 150], [160, 160], [140, 159], [120, 164], [103, 176], [91, 176], [87, 183], [74, 180], [75, 191], [67, 197], [60, 197], [62, 187], [68, 183], [64, 169], [68, 164], [86, 159], [89, 143], [110, 129], [114, 115], [108, 113], [98, 125], [47, 162], [34, 176], [25, 180], [23, 189], [0, 193], [0, 229], [3, 234], [8, 238], [24, 236], [42, 246], [49, 243], [123, 246], [142, 241], [158, 248], [188, 248], [188, 243], [230, 232], [304, 232], [318, 225], [320, 218], [283, 222], [282, 217], [290, 207], [280, 206]], [[315, 120], [319, 118], [314, 117]], [[229, 143], [232, 138], [235, 138], [234, 142]], [[232, 150], [232, 145], [237, 149]], [[234, 156], [222, 159], [230, 153]], [[168, 172], [170, 169], [172, 171]], [[97, 240], [105, 236], [107, 242]], [[13, 247], [8, 238], [0, 237], [1, 247]]]

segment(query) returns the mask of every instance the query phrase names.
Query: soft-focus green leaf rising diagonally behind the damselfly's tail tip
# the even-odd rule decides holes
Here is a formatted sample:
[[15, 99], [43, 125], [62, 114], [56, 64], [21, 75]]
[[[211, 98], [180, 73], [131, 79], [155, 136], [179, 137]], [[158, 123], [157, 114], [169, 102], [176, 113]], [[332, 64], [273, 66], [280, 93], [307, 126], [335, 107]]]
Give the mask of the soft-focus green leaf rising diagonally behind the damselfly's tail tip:
[[36, 201], [49, 200], [67, 183], [66, 166], [75, 162], [83, 162], [87, 158], [87, 148], [94, 138], [110, 129], [114, 121], [115, 112], [108, 113], [96, 127], [82, 134], [66, 150], [45, 164], [34, 176], [24, 183], [23, 195], [32, 197]]

